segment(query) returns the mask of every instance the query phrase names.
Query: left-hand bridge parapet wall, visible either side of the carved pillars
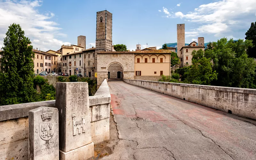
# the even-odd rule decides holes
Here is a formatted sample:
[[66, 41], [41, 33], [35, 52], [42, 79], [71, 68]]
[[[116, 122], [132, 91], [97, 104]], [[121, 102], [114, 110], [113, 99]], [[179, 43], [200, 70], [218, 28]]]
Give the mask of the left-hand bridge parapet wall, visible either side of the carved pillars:
[[[94, 144], [109, 140], [110, 92], [105, 80], [89, 96], [91, 135]], [[28, 160], [28, 111], [55, 107], [55, 100], [0, 106], [0, 160]]]

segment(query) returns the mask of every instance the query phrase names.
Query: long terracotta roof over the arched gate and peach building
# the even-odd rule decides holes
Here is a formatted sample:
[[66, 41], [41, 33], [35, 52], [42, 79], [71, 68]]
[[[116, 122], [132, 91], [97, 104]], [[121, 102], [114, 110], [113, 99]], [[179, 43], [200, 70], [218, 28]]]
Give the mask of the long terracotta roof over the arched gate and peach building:
[[144, 54], [144, 53], [150, 53], [150, 54], [159, 54], [159, 53], [171, 53], [170, 50], [149, 50], [149, 51], [134, 51], [134, 52], [128, 52], [128, 51], [116, 51], [116, 52], [99, 52], [98, 54]]

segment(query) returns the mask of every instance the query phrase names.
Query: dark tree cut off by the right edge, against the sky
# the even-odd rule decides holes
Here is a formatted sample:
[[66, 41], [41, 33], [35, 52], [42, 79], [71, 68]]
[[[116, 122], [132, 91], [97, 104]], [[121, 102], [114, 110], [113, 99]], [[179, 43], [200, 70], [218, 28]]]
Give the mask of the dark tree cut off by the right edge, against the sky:
[[247, 50], [248, 57], [256, 58], [256, 22], [251, 23], [251, 27], [245, 33], [246, 40], [252, 40], [252, 47], [249, 47]]

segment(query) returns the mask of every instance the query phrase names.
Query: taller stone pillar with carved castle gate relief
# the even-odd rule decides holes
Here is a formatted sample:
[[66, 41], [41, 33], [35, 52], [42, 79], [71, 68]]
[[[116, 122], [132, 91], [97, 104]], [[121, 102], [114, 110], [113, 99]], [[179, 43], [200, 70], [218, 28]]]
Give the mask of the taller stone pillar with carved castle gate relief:
[[88, 83], [57, 83], [55, 107], [60, 119], [60, 160], [92, 158]]

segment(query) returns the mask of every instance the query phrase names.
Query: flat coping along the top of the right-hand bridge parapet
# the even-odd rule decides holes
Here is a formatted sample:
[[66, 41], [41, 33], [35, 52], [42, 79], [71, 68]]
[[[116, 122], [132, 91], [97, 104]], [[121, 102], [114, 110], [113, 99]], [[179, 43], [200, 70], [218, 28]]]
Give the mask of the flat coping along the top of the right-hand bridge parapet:
[[137, 79], [124, 79], [124, 80], [140, 81], [141, 83], [142, 82], [154, 82], [156, 84], [167, 84], [167, 85], [171, 84], [171, 85], [182, 86], [182, 87], [194, 87], [194, 88], [202, 88], [202, 89], [210, 89], [210, 90], [227, 91], [227, 92], [239, 92], [239, 93], [247, 93], [247, 94], [256, 94], [256, 89], [248, 89], [248, 88], [235, 88], [235, 87], [221, 87], [221, 86], [212, 86], [212, 85], [158, 82], [158, 81], [147, 81], [147, 80], [137, 80]]

